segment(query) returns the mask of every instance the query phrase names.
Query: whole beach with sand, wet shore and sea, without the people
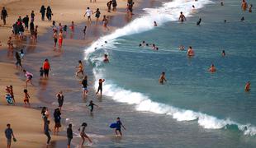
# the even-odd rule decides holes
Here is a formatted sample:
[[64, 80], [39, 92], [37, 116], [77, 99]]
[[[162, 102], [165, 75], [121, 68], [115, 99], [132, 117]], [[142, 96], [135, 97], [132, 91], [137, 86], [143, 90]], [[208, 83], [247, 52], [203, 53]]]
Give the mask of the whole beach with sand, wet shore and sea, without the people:
[[[117, 12], [111, 13], [107, 12], [107, 1], [103, 0], [26, 1], [32, 6], [29, 8], [24, 2], [6, 5], [12, 20], [7, 25], [19, 14], [25, 16], [31, 9], [36, 12], [35, 24], [39, 25], [36, 43], [31, 39], [13, 41], [15, 51], [25, 50], [23, 67], [34, 74], [35, 86], [27, 87], [31, 109], [23, 107], [26, 77], [16, 68], [15, 58], [7, 53], [6, 41], [0, 35], [3, 43], [0, 67], [7, 69], [0, 72], [0, 95], [4, 98], [5, 87], [12, 85], [17, 100], [16, 106], [6, 105], [5, 99], [0, 101], [0, 114], [4, 113], [0, 129], [3, 131], [11, 123], [14, 134], [17, 133], [13, 147], [25, 143], [27, 147], [45, 147], [40, 109], [43, 106], [50, 109], [53, 129], [52, 113], [58, 108], [56, 93], [60, 90], [64, 94], [62, 127], [59, 136], [53, 136], [51, 147], [66, 146], [66, 127], [70, 123], [73, 125], [71, 147], [81, 142], [78, 128], [82, 123], [88, 123], [86, 133], [93, 141], [93, 144], [86, 141], [84, 146], [256, 146], [254, 7], [253, 12], [243, 11], [241, 2], [232, 0], [222, 4], [215, 0], [135, 1], [134, 15], [129, 16], [126, 0], [118, 1]], [[255, 1], [248, 2], [251, 3]], [[53, 48], [52, 22], [40, 21], [42, 4], [52, 7], [57, 25], [59, 22], [68, 25], [61, 51]], [[83, 16], [86, 7], [93, 11], [100, 8], [98, 25], [94, 15], [92, 24], [88, 25]], [[185, 20], [179, 19], [180, 12], [186, 16]], [[105, 14], [110, 30], [102, 26]], [[75, 24], [74, 33], [69, 28], [71, 21]], [[84, 25], [88, 26], [86, 35], [82, 31]], [[7, 31], [6, 27], [0, 29]], [[188, 56], [188, 49], [193, 49], [195, 54]], [[106, 54], [109, 62], [103, 62]], [[39, 72], [46, 58], [51, 67], [49, 78], [40, 77]], [[84, 98], [81, 88], [84, 75], [75, 73], [79, 60], [84, 75], [88, 76], [88, 94]], [[216, 67], [214, 72], [209, 69], [212, 65]], [[163, 72], [165, 81], [159, 84]], [[106, 80], [102, 84], [102, 97], [96, 95], [100, 79]], [[249, 82], [251, 90], [244, 90]], [[88, 106], [91, 100], [97, 104], [93, 113]], [[19, 113], [26, 115], [19, 116]], [[123, 136], [116, 136], [115, 128], [110, 128], [117, 117], [126, 127], [126, 130], [121, 128]], [[31, 118], [32, 127], [26, 118]], [[18, 127], [17, 121], [22, 121], [21, 126]], [[28, 128], [31, 132], [26, 132]], [[6, 144], [3, 135], [0, 141]]]

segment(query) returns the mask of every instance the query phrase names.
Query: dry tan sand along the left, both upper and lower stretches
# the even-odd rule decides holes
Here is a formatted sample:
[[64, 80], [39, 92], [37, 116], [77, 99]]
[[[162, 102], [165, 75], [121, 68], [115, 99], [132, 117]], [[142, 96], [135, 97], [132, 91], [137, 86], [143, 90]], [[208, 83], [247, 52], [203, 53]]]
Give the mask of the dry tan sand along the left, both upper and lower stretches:
[[[117, 12], [109, 13], [107, 12], [107, 2], [107, 0], [97, 0], [97, 2], [89, 2], [89, 0], [77, 0], [76, 2], [70, 0], [2, 0], [0, 1], [0, 9], [2, 10], [2, 7], [6, 7], [8, 17], [7, 25], [3, 26], [2, 21], [0, 21], [0, 41], [2, 42], [2, 47], [0, 47], [0, 49], [7, 49], [7, 38], [12, 35], [12, 24], [17, 20], [18, 16], [30, 16], [32, 10], [36, 13], [35, 25], [39, 25], [39, 35], [43, 35], [49, 29], [52, 22], [40, 20], [39, 11], [41, 5], [45, 5], [45, 7], [50, 6], [52, 8], [54, 13], [52, 20], [56, 21], [57, 24], [61, 22], [63, 25], [69, 26], [71, 21], [74, 21], [75, 25], [86, 23], [87, 18], [83, 15], [87, 7], [90, 7], [93, 12], [95, 12], [97, 8], [100, 9], [101, 17], [99, 21], [102, 21], [103, 15], [113, 16], [121, 14], [121, 12], [118, 12], [118, 9], [126, 8], [126, 0], [119, 0], [117, 1]], [[95, 20], [96, 18], [93, 14], [92, 21]], [[29, 32], [26, 32], [26, 34], [29, 34]], [[88, 40], [86, 42], [88, 43]], [[30, 65], [30, 63], [27, 64]], [[43, 121], [40, 111], [22, 107], [24, 104], [23, 90], [25, 88], [25, 78], [24, 80], [21, 80], [20, 76], [24, 76], [23, 72], [16, 69], [14, 64], [4, 62], [0, 62], [0, 69], [4, 69], [4, 71], [0, 72], [0, 97], [2, 98], [0, 99], [0, 130], [2, 131], [0, 144], [6, 146], [6, 139], [3, 131], [6, 128], [6, 124], [11, 123], [14, 134], [17, 137], [17, 142], [12, 142], [12, 147], [45, 147], [46, 136], [43, 133]], [[7, 106], [7, 101], [5, 99], [5, 88], [10, 85], [13, 86], [14, 90], [16, 100], [15, 106]], [[29, 95], [31, 95], [31, 106], [40, 106], [40, 100], [37, 96], [39, 88], [28, 86], [27, 89], [29, 90]], [[53, 129], [53, 126], [54, 121], [51, 120], [50, 129]], [[65, 142], [65, 136], [52, 136], [52, 141], [62, 140]], [[60, 145], [57, 143], [56, 146], [63, 147], [63, 143], [60, 143]]]

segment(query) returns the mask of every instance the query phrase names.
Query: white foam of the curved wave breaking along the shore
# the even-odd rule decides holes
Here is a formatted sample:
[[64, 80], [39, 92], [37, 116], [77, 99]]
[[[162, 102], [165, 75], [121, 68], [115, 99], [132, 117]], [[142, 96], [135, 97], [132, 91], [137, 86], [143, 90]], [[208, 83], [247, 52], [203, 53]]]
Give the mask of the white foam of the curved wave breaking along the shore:
[[[145, 9], [146, 15], [141, 16], [130, 24], [124, 26], [121, 29], [115, 30], [110, 35], [102, 36], [97, 39], [92, 45], [85, 50], [85, 59], [89, 59], [90, 62], [95, 64], [93, 68], [93, 74], [96, 80], [104, 77], [104, 69], [101, 67], [102, 57], [98, 55], [90, 57], [90, 53], [96, 51], [96, 49], [109, 49], [115, 42], [116, 38], [125, 35], [138, 34], [147, 30], [154, 29], [153, 22], [157, 21], [158, 25], [163, 25], [168, 21], [178, 21], [179, 12], [187, 17], [192, 16], [192, 5], [197, 9], [204, 7], [206, 4], [211, 3], [209, 0], [174, 0], [173, 2], [166, 2], [163, 7], [159, 8], [147, 8]], [[107, 44], [106, 42], [107, 41]], [[97, 81], [95, 81], [95, 89], [97, 89]], [[236, 123], [229, 118], [219, 119], [206, 113], [195, 112], [192, 110], [178, 109], [171, 105], [161, 104], [149, 99], [149, 96], [141, 94], [139, 92], [133, 92], [130, 90], [122, 89], [111, 81], [106, 81], [104, 84], [104, 95], [110, 96], [117, 102], [134, 104], [135, 109], [138, 111], [145, 111], [151, 113], [162, 113], [172, 116], [178, 121], [197, 121], [198, 125], [207, 129], [221, 129], [228, 128], [229, 126], [237, 127], [244, 135], [255, 135], [256, 127], [250, 124]]]

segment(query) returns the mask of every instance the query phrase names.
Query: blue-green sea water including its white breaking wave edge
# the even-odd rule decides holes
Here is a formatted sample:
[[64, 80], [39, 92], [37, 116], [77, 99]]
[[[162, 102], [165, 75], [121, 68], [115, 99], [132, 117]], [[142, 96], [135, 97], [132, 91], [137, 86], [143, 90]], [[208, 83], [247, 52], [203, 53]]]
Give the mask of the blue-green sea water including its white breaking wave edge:
[[[192, 5], [196, 10], [192, 10]], [[179, 12], [187, 16], [184, 23], [178, 22]], [[225, 1], [224, 6], [219, 1], [174, 0], [164, 2], [162, 7], [145, 8], [144, 16], [102, 36], [85, 49], [84, 57], [92, 64], [96, 78], [95, 89], [97, 80], [104, 78], [103, 94], [116, 102], [130, 104], [136, 112], [171, 117], [193, 128], [197, 125], [203, 130], [232, 132], [228, 146], [223, 147], [254, 147], [255, 140], [251, 139], [256, 134], [254, 13], [254, 10], [242, 12], [240, 2], [231, 0]], [[242, 16], [245, 21], [240, 21]], [[199, 18], [202, 21], [197, 26]], [[154, 27], [154, 21], [159, 26]], [[156, 44], [159, 51], [139, 47], [142, 40]], [[187, 58], [186, 51], [178, 49], [180, 45], [186, 50], [192, 46], [196, 55]], [[222, 50], [225, 57], [221, 56]], [[102, 62], [105, 53], [110, 63]], [[208, 72], [212, 63], [216, 73]], [[161, 72], [166, 72], [165, 85], [159, 85]], [[250, 92], [244, 92], [247, 81], [252, 84]], [[245, 144], [235, 142], [241, 137]], [[178, 147], [180, 143], [167, 146]], [[215, 147], [214, 142], [209, 147]]]

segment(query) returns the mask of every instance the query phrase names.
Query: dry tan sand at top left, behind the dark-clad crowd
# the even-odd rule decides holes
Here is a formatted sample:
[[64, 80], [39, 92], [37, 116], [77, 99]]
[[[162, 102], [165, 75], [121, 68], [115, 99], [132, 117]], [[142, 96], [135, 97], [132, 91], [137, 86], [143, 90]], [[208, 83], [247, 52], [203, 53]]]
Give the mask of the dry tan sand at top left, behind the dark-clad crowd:
[[[102, 21], [102, 16], [113, 16], [120, 14], [118, 12], [119, 8], [126, 8], [126, 0], [117, 1], [117, 12], [107, 12], [107, 2], [108, 0], [97, 0], [97, 2], [90, 2], [90, 0], [76, 0], [75, 2], [70, 0], [11, 0], [11, 1], [0, 1], [0, 8], [7, 8], [7, 25], [2, 24], [0, 21], [0, 41], [2, 42], [2, 48], [7, 47], [7, 38], [12, 35], [12, 24], [17, 21], [18, 16], [24, 17], [26, 15], [31, 16], [31, 11], [35, 11], [35, 25], [39, 25], [39, 35], [45, 33], [47, 28], [52, 24], [51, 21], [41, 21], [40, 17], [40, 7], [45, 5], [45, 7], [50, 6], [53, 12], [52, 21], [56, 21], [56, 25], [62, 23], [63, 25], [71, 25], [71, 21], [74, 24], [86, 23], [87, 18], [84, 17], [84, 13], [87, 7], [95, 12], [97, 8], [100, 9], [101, 17], [99, 21]], [[29, 7], [28, 7], [29, 6]], [[46, 18], [45, 18], [46, 19]], [[47, 20], [47, 19], [46, 19]], [[92, 21], [95, 21], [95, 14], [92, 15]], [[102, 22], [101, 22], [102, 23]], [[28, 34], [28, 32], [26, 32]]]

